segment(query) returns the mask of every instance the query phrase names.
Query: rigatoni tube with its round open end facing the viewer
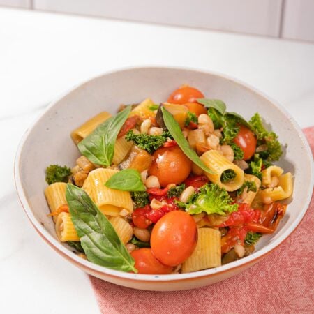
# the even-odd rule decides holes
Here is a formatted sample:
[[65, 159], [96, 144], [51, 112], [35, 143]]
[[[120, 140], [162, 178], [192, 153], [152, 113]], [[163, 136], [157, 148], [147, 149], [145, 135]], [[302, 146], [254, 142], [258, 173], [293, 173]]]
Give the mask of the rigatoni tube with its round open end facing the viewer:
[[[214, 172], [214, 174], [204, 172], [206, 177], [214, 184], [218, 184], [218, 186], [225, 188], [228, 192], [237, 190], [244, 184], [244, 171], [237, 165], [234, 165], [234, 163], [231, 163], [220, 151], [206, 151], [200, 158], [202, 162]], [[230, 181], [221, 182], [221, 175], [226, 170], [233, 170], [236, 176]]]

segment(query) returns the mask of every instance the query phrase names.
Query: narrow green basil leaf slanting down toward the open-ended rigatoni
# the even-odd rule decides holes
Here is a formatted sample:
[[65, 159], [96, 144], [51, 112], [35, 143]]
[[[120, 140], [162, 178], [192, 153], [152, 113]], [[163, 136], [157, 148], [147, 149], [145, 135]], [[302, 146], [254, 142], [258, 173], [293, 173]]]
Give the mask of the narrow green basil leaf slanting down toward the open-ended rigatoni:
[[161, 108], [161, 111], [163, 112], [163, 121], [165, 122], [165, 126], [167, 126], [167, 129], [169, 130], [170, 134], [174, 138], [174, 140], [177, 142], [179, 147], [182, 149], [184, 154], [193, 161], [196, 165], [198, 165], [202, 170], [205, 172], [209, 172], [211, 174], [214, 174], [212, 170], [209, 169], [202, 160], [200, 160], [200, 157], [197, 156], [195, 151], [190, 148], [190, 145], [188, 144], [188, 141], [185, 139], [184, 135], [182, 134], [181, 128], [177, 121], [174, 120], [174, 117], [172, 114], [170, 114], [169, 111], [165, 109], [165, 107]]

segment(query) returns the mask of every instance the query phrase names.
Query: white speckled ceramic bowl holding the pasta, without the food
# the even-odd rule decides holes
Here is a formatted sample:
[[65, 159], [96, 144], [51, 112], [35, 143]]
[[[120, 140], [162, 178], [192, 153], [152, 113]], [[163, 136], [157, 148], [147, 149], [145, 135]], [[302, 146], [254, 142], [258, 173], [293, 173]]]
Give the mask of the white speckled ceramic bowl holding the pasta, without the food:
[[[245, 118], [260, 112], [269, 128], [287, 143], [279, 164], [294, 174], [294, 192], [287, 214], [275, 234], [262, 237], [255, 253], [222, 267], [190, 274], [126, 274], [88, 262], [61, 244], [43, 191], [45, 167], [52, 163], [74, 165], [79, 156], [70, 132], [100, 111], [116, 112], [121, 103], [138, 103], [150, 97], [165, 101], [181, 84], [200, 89], [208, 98], [218, 98], [227, 110]], [[83, 271], [111, 283], [142, 290], [186, 290], [216, 283], [252, 266], [280, 245], [299, 225], [313, 191], [313, 157], [299, 126], [274, 100], [237, 80], [196, 70], [178, 68], [130, 68], [96, 77], [54, 101], [24, 135], [15, 160], [15, 182], [24, 211], [38, 234], [57, 253]]]

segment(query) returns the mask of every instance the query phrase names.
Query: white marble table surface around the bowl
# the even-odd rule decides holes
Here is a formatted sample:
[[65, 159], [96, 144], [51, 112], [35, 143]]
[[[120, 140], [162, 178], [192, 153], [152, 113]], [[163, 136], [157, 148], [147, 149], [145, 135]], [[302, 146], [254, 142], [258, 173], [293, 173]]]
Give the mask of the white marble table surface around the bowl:
[[314, 124], [314, 45], [0, 8], [0, 313], [99, 313], [89, 278], [43, 242], [17, 200], [20, 138], [47, 103], [126, 66], [225, 73]]

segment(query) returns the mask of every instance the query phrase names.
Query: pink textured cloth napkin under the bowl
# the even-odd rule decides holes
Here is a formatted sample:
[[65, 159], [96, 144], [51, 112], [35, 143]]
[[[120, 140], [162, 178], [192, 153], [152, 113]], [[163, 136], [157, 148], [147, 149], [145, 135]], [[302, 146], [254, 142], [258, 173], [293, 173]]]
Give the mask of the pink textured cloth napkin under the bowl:
[[[314, 154], [314, 127], [304, 130]], [[101, 313], [314, 313], [314, 197], [279, 248], [241, 274], [196, 290], [133, 290], [91, 276]]]

